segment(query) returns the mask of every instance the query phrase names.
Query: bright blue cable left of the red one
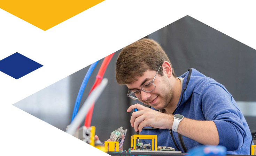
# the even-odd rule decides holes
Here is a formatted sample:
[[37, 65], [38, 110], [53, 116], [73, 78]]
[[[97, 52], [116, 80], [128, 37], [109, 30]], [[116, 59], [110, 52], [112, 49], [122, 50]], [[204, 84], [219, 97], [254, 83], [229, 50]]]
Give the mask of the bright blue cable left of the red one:
[[73, 109], [71, 122], [73, 121], [73, 119], [75, 118], [75, 116], [78, 112], [79, 104], [80, 104], [81, 98], [83, 96], [85, 86], [86, 86], [86, 84], [87, 84], [87, 82], [88, 82], [88, 80], [89, 80], [89, 78], [90, 78], [90, 76], [91, 76], [91, 74], [92, 74], [92, 72], [93, 72], [93, 70], [94, 70], [94, 68], [95, 68], [95, 66], [97, 65], [98, 62], [99, 61], [96, 61], [90, 66], [89, 70], [87, 71], [87, 73], [84, 77], [84, 80], [82, 82], [82, 85], [79, 89], [79, 92], [78, 92], [78, 95], [77, 95], [77, 98], [76, 98], [76, 103], [75, 103], [75, 106], [74, 106], [74, 109]]

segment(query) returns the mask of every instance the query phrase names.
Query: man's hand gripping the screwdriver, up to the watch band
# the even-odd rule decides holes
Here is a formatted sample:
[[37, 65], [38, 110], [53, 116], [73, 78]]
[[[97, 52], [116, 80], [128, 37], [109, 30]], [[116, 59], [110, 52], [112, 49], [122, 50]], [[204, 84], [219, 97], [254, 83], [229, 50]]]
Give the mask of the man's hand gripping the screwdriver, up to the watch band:
[[173, 115], [160, 113], [140, 104], [130, 106], [127, 112], [131, 112], [135, 108], [137, 108], [139, 111], [132, 113], [130, 121], [135, 131], [139, 130], [139, 132], [141, 132], [142, 128], [146, 126], [160, 129], [171, 129], [173, 123]]

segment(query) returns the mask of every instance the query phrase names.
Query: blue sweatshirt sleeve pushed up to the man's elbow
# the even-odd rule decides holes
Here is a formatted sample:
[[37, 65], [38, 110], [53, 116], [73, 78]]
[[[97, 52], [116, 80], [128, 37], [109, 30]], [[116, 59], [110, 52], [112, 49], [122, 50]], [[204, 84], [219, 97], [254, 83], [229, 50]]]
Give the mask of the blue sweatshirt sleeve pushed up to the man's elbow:
[[209, 84], [200, 97], [205, 119], [214, 121], [217, 127], [219, 145], [225, 146], [228, 151], [241, 148], [246, 130], [241, 120], [243, 115], [231, 94], [217, 84]]

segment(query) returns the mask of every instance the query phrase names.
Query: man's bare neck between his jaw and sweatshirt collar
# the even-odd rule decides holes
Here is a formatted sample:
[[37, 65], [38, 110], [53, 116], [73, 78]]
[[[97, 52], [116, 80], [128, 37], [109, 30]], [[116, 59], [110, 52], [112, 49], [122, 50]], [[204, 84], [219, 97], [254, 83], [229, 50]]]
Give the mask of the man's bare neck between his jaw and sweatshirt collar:
[[180, 79], [176, 78], [176, 81], [173, 85], [173, 97], [167, 107], [164, 108], [163, 113], [172, 114], [173, 111], [176, 109], [180, 94], [181, 94], [181, 82]]

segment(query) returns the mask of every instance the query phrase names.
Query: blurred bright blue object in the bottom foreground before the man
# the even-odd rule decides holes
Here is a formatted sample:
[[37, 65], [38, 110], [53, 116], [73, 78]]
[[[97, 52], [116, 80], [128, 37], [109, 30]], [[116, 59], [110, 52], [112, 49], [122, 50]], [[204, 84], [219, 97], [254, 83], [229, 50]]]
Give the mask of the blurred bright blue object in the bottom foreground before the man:
[[190, 149], [187, 153], [189, 156], [225, 156], [226, 147], [224, 146], [198, 146]]

